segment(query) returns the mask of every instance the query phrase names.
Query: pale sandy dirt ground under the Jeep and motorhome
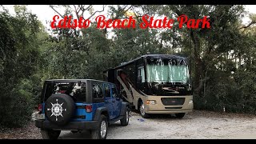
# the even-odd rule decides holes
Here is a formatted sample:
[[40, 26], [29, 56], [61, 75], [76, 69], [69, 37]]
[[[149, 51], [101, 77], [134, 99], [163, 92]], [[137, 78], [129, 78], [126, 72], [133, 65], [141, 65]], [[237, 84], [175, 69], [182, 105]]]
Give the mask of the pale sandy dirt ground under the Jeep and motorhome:
[[[13, 131], [13, 133], [12, 133]], [[29, 126], [0, 133], [0, 138], [40, 139], [38, 128]], [[72, 134], [62, 131], [60, 139], [90, 138], [88, 131]], [[251, 114], [226, 114], [194, 110], [184, 118], [173, 115], [153, 115], [142, 118], [130, 114], [128, 126], [115, 122], [109, 126], [107, 139], [256, 139], [256, 116]]]

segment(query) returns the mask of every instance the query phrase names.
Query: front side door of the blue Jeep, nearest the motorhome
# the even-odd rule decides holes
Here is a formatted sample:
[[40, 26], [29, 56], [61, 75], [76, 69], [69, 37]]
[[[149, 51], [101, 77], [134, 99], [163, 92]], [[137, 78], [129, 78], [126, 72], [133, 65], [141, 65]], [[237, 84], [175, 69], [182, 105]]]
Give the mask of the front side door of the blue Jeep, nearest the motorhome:
[[122, 101], [118, 97], [118, 91], [115, 85], [111, 85], [111, 96], [113, 104], [113, 115], [114, 118], [117, 118], [120, 115]]

